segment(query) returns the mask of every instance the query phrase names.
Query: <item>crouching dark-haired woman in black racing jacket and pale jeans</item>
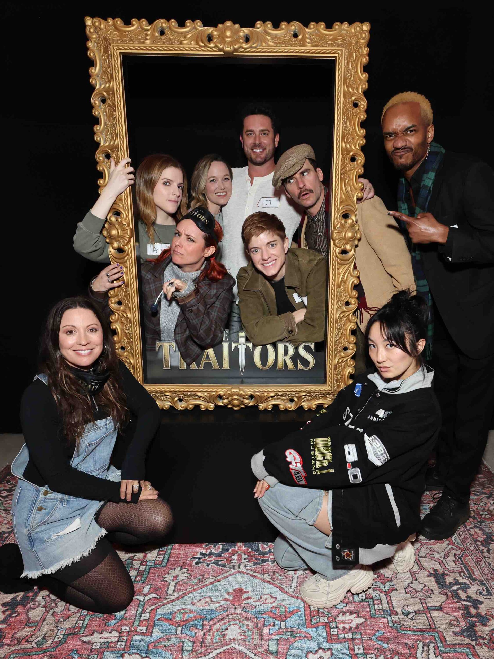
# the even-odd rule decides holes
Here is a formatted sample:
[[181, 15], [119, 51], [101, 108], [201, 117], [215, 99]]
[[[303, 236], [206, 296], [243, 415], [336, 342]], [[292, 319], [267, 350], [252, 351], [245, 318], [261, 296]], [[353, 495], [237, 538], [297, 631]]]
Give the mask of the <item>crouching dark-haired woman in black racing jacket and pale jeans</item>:
[[[357, 376], [298, 432], [252, 458], [254, 490], [281, 530], [275, 559], [316, 572], [300, 588], [308, 604], [341, 602], [370, 588], [375, 561], [408, 571], [420, 528], [427, 457], [441, 424], [433, 370], [422, 350], [424, 299], [400, 291], [366, 329], [375, 368]], [[332, 559], [332, 561], [331, 561]]]

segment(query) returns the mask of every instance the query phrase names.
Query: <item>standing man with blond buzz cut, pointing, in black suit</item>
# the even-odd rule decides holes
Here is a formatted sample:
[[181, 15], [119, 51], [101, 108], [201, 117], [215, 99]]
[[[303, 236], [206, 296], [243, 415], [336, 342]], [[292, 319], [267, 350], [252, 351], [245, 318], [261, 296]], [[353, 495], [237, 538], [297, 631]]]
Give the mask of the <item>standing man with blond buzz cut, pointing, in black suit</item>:
[[427, 351], [443, 415], [428, 490], [443, 494], [422, 535], [449, 538], [470, 517], [470, 483], [494, 408], [494, 172], [433, 141], [431, 104], [416, 92], [389, 100], [384, 146], [401, 173], [398, 211], [418, 292], [429, 303]]

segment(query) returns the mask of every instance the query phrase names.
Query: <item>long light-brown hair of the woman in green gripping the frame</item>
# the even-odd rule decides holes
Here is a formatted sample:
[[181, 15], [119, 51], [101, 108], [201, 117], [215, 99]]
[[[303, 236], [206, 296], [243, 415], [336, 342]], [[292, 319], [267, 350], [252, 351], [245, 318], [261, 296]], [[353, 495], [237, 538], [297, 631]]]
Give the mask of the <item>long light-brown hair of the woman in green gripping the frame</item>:
[[146, 231], [153, 243], [155, 242], [153, 222], [156, 219], [156, 206], [153, 202], [153, 192], [159, 181], [159, 177], [161, 177], [163, 169], [167, 169], [167, 167], [177, 167], [177, 169], [180, 169], [184, 177], [182, 201], [175, 213], [175, 221], [178, 222], [180, 217], [186, 214], [188, 208], [187, 177], [184, 168], [180, 165], [178, 160], [173, 158], [173, 156], [167, 156], [167, 154], [153, 154], [152, 156], [146, 156], [136, 171], [136, 199], [139, 216], [146, 225]]

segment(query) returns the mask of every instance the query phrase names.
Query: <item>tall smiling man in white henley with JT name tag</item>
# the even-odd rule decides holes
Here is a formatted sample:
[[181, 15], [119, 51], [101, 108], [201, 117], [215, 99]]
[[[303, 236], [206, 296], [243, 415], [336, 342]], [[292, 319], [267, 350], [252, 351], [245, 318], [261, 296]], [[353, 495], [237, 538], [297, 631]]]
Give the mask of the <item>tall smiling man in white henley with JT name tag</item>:
[[[265, 211], [274, 213], [285, 225], [288, 236], [292, 236], [300, 223], [300, 208], [283, 188], [273, 187], [275, 171], [275, 149], [279, 142], [278, 122], [273, 109], [263, 103], [251, 103], [241, 115], [240, 142], [248, 165], [233, 168], [233, 191], [226, 206], [223, 206], [225, 235], [221, 248], [221, 261], [236, 279], [238, 270], [248, 264], [242, 243], [242, 224], [252, 213]], [[373, 196], [372, 186], [364, 181], [364, 198]], [[238, 311], [238, 291], [233, 289], [235, 301], [229, 322], [230, 334], [242, 329]]]

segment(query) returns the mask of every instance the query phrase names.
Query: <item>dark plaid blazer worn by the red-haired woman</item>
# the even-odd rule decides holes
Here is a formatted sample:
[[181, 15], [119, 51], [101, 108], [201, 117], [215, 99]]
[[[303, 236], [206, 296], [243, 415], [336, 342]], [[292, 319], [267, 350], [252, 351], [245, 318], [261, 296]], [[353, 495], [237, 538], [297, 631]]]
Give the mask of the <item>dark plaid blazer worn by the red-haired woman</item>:
[[[161, 263], [145, 261], [141, 264], [142, 297], [146, 347], [156, 349], [156, 341], [161, 341], [159, 324], [160, 308], [151, 314], [151, 304], [163, 287], [163, 273], [171, 258]], [[180, 313], [175, 325], [175, 344], [187, 364], [192, 364], [203, 351], [223, 339], [227, 326], [235, 280], [229, 274], [220, 281], [209, 281], [204, 277], [196, 283], [192, 293], [180, 299]], [[161, 303], [160, 303], [161, 304]]]

